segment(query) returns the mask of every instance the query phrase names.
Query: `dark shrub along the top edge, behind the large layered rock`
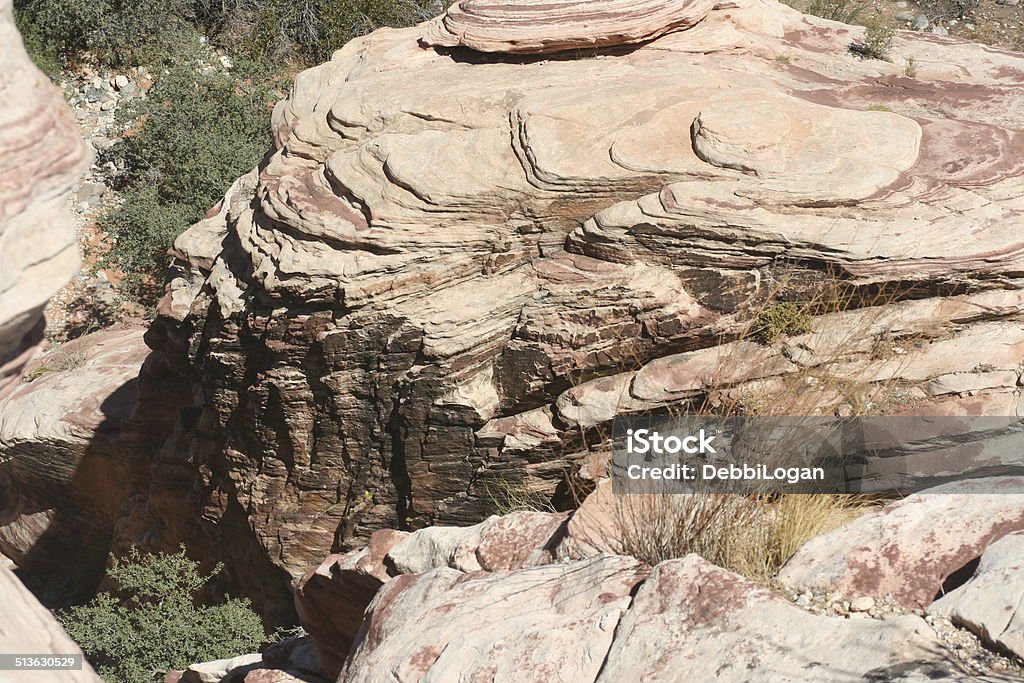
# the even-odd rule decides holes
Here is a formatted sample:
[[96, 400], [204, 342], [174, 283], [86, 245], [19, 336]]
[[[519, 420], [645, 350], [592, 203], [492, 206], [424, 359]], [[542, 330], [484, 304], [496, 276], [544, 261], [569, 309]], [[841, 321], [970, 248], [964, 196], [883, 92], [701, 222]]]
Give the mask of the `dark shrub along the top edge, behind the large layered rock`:
[[440, 13], [443, 0], [201, 0], [199, 13], [221, 42], [251, 57], [318, 63], [380, 27], [406, 27]]

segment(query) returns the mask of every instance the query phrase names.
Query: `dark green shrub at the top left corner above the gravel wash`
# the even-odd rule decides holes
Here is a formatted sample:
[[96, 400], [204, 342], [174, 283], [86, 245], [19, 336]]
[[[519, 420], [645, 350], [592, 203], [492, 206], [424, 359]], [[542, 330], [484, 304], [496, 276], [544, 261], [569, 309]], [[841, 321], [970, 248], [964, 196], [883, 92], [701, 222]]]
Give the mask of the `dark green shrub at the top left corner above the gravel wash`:
[[89, 51], [112, 66], [162, 61], [195, 40], [193, 16], [189, 0], [15, 2], [15, 19], [31, 37], [33, 54], [74, 59]]

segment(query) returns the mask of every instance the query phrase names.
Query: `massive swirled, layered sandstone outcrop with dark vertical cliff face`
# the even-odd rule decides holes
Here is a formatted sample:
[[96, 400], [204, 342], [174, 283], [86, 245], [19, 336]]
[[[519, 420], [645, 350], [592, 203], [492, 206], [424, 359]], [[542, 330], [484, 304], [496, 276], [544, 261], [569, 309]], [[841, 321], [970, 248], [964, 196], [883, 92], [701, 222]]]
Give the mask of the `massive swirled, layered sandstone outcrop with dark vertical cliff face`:
[[[147, 340], [196, 397], [133, 538], [230, 558], [274, 621], [375, 529], [564, 496], [616, 410], [809, 373], [829, 411], [1016, 410], [1024, 56], [640, 4], [464, 0], [298, 76], [176, 243]], [[837, 287], [811, 333], [744, 338]]]

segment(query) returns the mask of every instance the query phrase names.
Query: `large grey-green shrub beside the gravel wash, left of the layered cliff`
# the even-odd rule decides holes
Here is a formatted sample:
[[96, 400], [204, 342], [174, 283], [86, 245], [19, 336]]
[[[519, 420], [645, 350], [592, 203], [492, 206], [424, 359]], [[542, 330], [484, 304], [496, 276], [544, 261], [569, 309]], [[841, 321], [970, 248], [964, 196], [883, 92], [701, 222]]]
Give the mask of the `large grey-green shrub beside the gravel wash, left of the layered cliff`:
[[270, 146], [270, 103], [280, 93], [273, 77], [252, 69], [228, 74], [182, 61], [119, 112], [137, 131], [106, 155], [123, 169], [115, 182], [124, 201], [100, 219], [112, 239], [104, 260], [143, 302], [152, 302], [174, 239]]

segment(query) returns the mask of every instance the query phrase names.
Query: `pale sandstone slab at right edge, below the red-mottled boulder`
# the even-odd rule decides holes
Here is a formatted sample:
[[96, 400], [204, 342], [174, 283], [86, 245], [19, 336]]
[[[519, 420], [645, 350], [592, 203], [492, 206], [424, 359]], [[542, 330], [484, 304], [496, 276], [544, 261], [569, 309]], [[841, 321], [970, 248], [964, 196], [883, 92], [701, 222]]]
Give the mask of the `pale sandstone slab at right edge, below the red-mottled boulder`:
[[1006, 536], [981, 556], [971, 579], [928, 607], [984, 642], [1024, 658], [1024, 533]]

